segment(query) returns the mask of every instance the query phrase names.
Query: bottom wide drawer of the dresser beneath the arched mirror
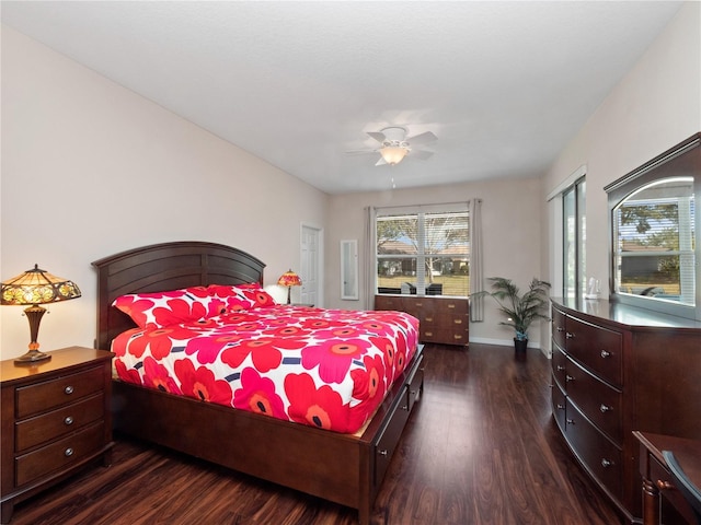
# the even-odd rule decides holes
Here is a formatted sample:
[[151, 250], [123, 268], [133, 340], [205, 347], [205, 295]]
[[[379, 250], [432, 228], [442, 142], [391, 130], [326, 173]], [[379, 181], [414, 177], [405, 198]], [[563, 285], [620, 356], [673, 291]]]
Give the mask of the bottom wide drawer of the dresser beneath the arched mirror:
[[567, 399], [565, 439], [588, 470], [617, 499], [623, 494], [623, 463], [621, 448], [577, 410]]

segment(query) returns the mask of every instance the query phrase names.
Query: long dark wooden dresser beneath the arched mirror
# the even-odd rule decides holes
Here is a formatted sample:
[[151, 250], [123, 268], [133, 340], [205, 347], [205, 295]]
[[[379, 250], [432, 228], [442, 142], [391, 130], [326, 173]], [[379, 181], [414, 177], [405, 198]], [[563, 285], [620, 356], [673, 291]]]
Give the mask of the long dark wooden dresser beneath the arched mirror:
[[609, 301], [552, 302], [552, 411], [584, 469], [642, 516], [633, 431], [701, 439], [701, 323]]

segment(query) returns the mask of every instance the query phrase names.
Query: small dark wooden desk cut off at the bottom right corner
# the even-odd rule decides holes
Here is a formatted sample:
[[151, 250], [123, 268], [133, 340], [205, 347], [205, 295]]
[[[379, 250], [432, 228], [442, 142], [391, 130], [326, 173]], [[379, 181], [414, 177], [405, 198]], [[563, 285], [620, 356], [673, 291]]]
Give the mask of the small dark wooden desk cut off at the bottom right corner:
[[691, 506], [676, 489], [662, 451], [671, 451], [685, 474], [701, 487], [701, 441], [671, 435], [633, 432], [640, 442], [640, 471], [643, 476], [643, 525], [659, 525], [659, 498], [665, 498], [690, 524], [696, 523]]

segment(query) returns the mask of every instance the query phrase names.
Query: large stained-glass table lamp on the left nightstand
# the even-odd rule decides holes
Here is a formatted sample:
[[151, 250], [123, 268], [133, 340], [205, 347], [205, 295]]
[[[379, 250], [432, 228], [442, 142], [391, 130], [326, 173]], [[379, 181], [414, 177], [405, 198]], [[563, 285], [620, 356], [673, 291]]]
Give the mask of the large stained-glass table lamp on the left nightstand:
[[38, 265], [34, 265], [33, 269], [0, 284], [2, 287], [0, 304], [30, 305], [24, 308], [24, 315], [30, 322], [30, 336], [32, 338], [30, 351], [15, 359], [15, 362], [31, 364], [49, 359], [49, 354], [38, 351], [39, 323], [42, 322], [42, 316], [46, 313], [46, 308], [39, 306], [39, 304], [80, 298], [80, 289], [68, 279], [56, 277], [46, 270], [39, 269]]

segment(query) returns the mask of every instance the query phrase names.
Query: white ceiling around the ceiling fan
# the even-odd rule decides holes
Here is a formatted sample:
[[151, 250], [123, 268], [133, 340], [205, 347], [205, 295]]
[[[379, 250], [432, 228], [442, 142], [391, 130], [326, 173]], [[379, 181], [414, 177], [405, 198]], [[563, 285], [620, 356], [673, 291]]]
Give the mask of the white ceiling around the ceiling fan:
[[[543, 173], [677, 1], [2, 1], [2, 22], [330, 194]], [[433, 131], [375, 166], [367, 131]]]

